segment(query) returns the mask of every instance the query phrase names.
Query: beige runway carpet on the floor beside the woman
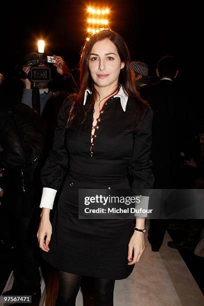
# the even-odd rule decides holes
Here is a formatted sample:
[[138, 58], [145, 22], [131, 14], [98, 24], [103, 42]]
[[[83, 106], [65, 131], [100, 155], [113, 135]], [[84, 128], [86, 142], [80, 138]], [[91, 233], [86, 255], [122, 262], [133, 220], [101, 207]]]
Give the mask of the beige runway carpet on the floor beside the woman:
[[[126, 279], [115, 281], [114, 306], [203, 306], [204, 296], [178, 250], [167, 246], [165, 233], [159, 252], [145, 250]], [[76, 306], [82, 306], [79, 291]]]

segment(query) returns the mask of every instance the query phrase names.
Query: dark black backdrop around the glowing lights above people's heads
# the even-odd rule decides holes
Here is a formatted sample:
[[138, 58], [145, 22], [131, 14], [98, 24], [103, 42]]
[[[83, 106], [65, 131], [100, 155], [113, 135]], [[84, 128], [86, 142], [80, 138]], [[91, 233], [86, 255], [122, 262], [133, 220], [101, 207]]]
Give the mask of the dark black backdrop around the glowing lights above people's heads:
[[0, 71], [9, 75], [16, 62], [28, 52], [37, 52], [43, 38], [47, 55], [61, 55], [70, 68], [79, 60], [86, 37], [86, 8], [110, 8], [110, 27], [125, 39], [132, 60], [145, 61], [150, 75], [163, 55], [174, 55], [181, 82], [193, 69], [193, 5], [174, 0], [83, 0], [4, 1], [1, 6]]

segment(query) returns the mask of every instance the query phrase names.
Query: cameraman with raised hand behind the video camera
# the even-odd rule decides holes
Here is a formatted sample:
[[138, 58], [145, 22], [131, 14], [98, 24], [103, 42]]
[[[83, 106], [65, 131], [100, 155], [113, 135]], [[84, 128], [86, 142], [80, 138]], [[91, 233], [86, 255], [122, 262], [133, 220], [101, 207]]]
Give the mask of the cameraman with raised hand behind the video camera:
[[[53, 65], [56, 67], [56, 71], [59, 75], [61, 75], [63, 90], [56, 92], [49, 91], [48, 82], [51, 80], [51, 77], [45, 78], [43, 81], [38, 81], [34, 72], [30, 73], [30, 70], [38, 69], [38, 67], [42, 68], [42, 70], [37, 71], [38, 75], [40, 75], [40, 72], [43, 72], [43, 69], [50, 69], [47, 65], [47, 60], [39, 58], [37, 53], [28, 53], [25, 55], [24, 66], [21, 71], [23, 73], [21, 73], [22, 77], [20, 78], [24, 84], [21, 102], [34, 108], [46, 122], [44, 156], [46, 156], [51, 149], [59, 108], [67, 95], [73, 93], [77, 89], [77, 85], [65, 61], [60, 56], [56, 55], [53, 55], [53, 59], [55, 61]], [[35, 78], [35, 81], [32, 80], [32, 74], [34, 75], [33, 78]], [[41, 74], [43, 75], [43, 73]]]

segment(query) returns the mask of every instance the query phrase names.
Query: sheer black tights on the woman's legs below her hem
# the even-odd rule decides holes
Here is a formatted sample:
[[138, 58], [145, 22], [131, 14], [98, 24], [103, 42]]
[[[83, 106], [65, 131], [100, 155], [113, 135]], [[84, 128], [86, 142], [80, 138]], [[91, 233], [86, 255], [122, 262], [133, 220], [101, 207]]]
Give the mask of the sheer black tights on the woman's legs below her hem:
[[[82, 276], [58, 271], [59, 290], [55, 306], [75, 306]], [[94, 278], [94, 306], [113, 306], [114, 280]]]

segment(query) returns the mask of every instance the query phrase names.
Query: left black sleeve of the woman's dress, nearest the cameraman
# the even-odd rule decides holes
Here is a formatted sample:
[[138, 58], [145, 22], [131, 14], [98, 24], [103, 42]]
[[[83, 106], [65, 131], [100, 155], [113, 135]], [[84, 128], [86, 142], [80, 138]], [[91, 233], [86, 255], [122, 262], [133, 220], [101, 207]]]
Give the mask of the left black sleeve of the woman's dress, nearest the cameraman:
[[42, 186], [58, 190], [67, 171], [68, 151], [64, 145], [66, 113], [65, 100], [58, 113], [52, 149], [41, 171]]

